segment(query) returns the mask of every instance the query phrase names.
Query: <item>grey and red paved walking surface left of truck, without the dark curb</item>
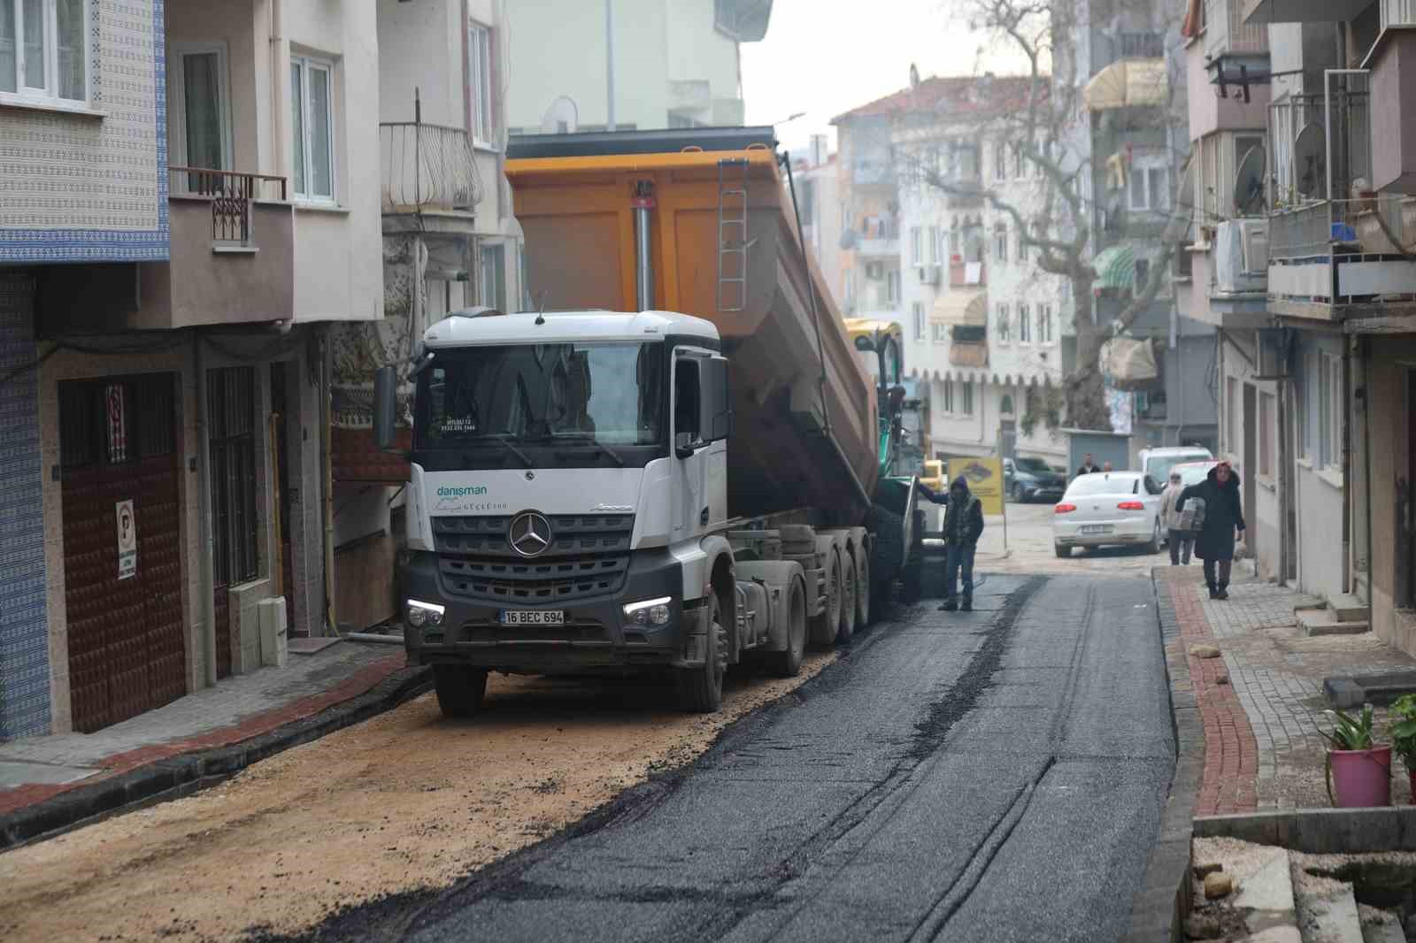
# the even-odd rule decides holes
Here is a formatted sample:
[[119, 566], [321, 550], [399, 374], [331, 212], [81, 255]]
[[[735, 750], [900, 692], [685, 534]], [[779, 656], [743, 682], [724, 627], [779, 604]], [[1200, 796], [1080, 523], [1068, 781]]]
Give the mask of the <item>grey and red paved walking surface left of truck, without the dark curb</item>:
[[340, 641], [95, 733], [0, 742], [0, 816], [159, 760], [270, 733], [365, 694], [404, 667], [402, 648]]

